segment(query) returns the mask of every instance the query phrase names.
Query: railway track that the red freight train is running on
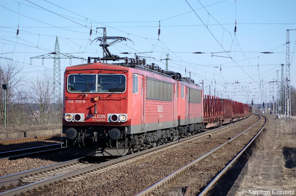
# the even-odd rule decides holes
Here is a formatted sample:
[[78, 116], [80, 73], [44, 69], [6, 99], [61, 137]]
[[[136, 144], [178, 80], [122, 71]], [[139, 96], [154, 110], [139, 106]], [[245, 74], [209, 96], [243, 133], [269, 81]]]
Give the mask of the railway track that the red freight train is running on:
[[[228, 126], [232, 126], [234, 124], [236, 123], [232, 123]], [[226, 126], [221, 128], [225, 127]], [[87, 175], [103, 173], [109, 171], [112, 168], [123, 166], [139, 159], [144, 159], [145, 157], [151, 156], [152, 154], [159, 153], [161, 151], [167, 150], [168, 148], [173, 148], [175, 146], [181, 145], [182, 141], [194, 140], [197, 137], [212, 133], [221, 128], [209, 130], [188, 138], [181, 139], [179, 141], [171, 142], [165, 145], [158, 146], [156, 148], [133, 153], [128, 156], [120, 157], [118, 159], [113, 159], [111, 161], [106, 161], [99, 164], [84, 163], [82, 161], [82, 158], [79, 158], [59, 164], [0, 177], [0, 187], [2, 187], [0, 189], [0, 195], [22, 194], [26, 193], [27, 191], [38, 190], [39, 187], [44, 187], [47, 184], [65, 179], [75, 182], [77, 180], [81, 180]], [[50, 190], [50, 188], [44, 187], [42, 191], [46, 189]]]

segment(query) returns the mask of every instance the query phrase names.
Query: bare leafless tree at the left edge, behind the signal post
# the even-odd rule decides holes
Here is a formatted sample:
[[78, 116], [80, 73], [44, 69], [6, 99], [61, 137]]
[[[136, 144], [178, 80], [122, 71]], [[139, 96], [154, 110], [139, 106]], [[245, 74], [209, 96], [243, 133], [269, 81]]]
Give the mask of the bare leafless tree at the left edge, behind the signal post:
[[[14, 100], [18, 97], [20, 88], [25, 83], [26, 75], [21, 73], [22, 67], [19, 63], [14, 61], [0, 61], [0, 82], [1, 84], [7, 84], [7, 122], [16, 123], [18, 120], [12, 113], [16, 113], [16, 109], [13, 107]], [[4, 124], [4, 89], [0, 88], [0, 121]], [[19, 124], [17, 122], [16, 124]]]

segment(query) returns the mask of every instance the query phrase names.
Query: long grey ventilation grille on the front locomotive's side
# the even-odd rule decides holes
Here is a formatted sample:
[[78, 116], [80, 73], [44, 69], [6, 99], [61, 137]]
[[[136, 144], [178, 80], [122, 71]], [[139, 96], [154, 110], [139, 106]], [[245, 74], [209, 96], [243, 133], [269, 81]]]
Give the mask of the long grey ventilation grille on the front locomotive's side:
[[159, 99], [172, 101], [173, 99], [173, 84], [147, 78], [147, 99]]

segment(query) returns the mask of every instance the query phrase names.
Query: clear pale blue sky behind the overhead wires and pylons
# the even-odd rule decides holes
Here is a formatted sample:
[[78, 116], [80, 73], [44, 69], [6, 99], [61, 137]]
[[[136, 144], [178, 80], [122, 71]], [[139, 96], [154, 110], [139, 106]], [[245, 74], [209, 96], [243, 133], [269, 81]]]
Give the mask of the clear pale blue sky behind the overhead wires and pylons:
[[[296, 29], [295, 7], [295, 0], [1, 0], [0, 53], [1, 57], [19, 62], [28, 77], [52, 73], [53, 59], [45, 59], [44, 64], [41, 59], [33, 59], [30, 64], [30, 57], [53, 52], [56, 36], [61, 53], [102, 57], [99, 44], [90, 44], [90, 40], [102, 36], [102, 30], [96, 32], [96, 27], [107, 27], [107, 36], [128, 37], [134, 43], [123, 41], [111, 46], [112, 54], [124, 57], [120, 53], [129, 52], [128, 56], [133, 57], [134, 53], [143, 53], [138, 55], [163, 69], [165, 61], [160, 59], [169, 54], [169, 70], [187, 77], [191, 72], [197, 83], [204, 80], [205, 93], [210, 85], [211, 94], [215, 89], [220, 97], [248, 103], [253, 98], [259, 103], [260, 81], [261, 91], [269, 95], [269, 82], [276, 80], [280, 64], [286, 64], [286, 30]], [[296, 31], [289, 35], [290, 79], [291, 85], [296, 86]], [[81, 60], [73, 59], [71, 65], [76, 64], [81, 64]], [[62, 77], [67, 66], [69, 59], [62, 59]], [[272, 87], [273, 83], [271, 91]], [[265, 99], [269, 101], [269, 97]]]

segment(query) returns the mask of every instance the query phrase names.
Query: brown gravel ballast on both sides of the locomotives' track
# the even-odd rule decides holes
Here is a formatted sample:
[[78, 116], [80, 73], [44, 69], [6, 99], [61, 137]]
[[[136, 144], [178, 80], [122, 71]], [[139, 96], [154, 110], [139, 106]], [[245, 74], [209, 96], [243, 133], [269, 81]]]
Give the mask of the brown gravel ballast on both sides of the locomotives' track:
[[[139, 159], [131, 164], [101, 174], [87, 174], [86, 177], [76, 182], [59, 182], [57, 185], [50, 187], [52, 190], [40, 192], [40, 195], [135, 195], [173, 171], [226, 142], [229, 137], [232, 138], [241, 133], [251, 124], [254, 124], [257, 119], [257, 116], [252, 115], [243, 122], [212, 133], [211, 139], [208, 138], [208, 135], [204, 135], [161, 153], [151, 155], [148, 158]], [[8, 175], [73, 158], [76, 157], [67, 155], [67, 152], [62, 152], [50, 156], [39, 156], [38, 158], [6, 161], [0, 163], [0, 174], [1, 176]]]

